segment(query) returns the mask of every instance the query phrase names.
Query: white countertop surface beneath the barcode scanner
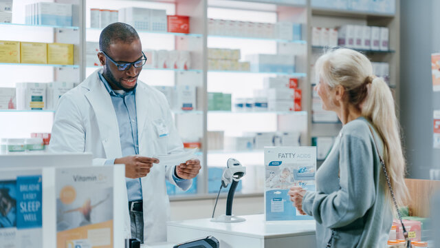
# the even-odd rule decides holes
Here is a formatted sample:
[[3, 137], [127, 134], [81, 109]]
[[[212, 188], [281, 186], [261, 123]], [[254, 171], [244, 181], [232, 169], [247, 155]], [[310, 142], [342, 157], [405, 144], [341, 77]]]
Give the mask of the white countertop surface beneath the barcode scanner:
[[241, 223], [214, 223], [211, 218], [196, 220], [172, 221], [168, 226], [185, 227], [188, 229], [203, 229], [224, 234], [248, 236], [252, 238], [281, 238], [287, 236], [300, 236], [315, 234], [315, 220], [264, 220], [264, 214], [239, 216], [246, 220]]

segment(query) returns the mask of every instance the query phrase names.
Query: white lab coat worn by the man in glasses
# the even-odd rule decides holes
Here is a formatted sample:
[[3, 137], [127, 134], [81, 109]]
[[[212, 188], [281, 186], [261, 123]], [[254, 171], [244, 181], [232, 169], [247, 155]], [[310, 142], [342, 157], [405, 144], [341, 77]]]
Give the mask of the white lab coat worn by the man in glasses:
[[[55, 114], [50, 152], [91, 152], [94, 165], [104, 165], [107, 159], [122, 157], [118, 119], [109, 92], [96, 70], [83, 83], [64, 94]], [[135, 92], [139, 154], [152, 157], [183, 151], [173, 116], [164, 94], [137, 81]], [[168, 136], [159, 137], [154, 121], [162, 120], [168, 127]], [[166, 241], [166, 221], [170, 218], [170, 203], [165, 180], [173, 180], [174, 165], [153, 165], [151, 172], [141, 179], [144, 202], [144, 240]], [[121, 182], [124, 183], [125, 182]], [[192, 180], [180, 182], [181, 189], [188, 189]], [[131, 237], [128, 196], [124, 201], [124, 236]]]

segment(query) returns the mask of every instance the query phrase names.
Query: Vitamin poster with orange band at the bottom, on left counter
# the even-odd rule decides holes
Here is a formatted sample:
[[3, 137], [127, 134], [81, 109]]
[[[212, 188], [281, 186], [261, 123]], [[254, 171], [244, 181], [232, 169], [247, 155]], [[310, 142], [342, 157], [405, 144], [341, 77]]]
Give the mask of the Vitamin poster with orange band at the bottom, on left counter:
[[56, 169], [56, 247], [113, 247], [113, 168]]

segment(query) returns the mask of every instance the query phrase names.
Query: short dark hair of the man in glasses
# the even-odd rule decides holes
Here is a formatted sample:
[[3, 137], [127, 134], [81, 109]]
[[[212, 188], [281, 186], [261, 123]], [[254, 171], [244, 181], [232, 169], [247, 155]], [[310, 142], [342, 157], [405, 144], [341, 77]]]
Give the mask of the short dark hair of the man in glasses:
[[118, 41], [132, 43], [139, 39], [136, 30], [126, 23], [111, 23], [102, 30], [99, 37], [99, 49], [104, 52], [109, 51], [109, 46]]

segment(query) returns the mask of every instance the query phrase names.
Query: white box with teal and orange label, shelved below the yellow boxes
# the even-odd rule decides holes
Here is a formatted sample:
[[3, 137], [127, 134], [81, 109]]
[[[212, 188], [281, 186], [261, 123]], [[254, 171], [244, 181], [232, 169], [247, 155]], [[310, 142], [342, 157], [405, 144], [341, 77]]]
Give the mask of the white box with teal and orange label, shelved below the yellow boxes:
[[45, 83], [17, 83], [17, 110], [45, 110]]

